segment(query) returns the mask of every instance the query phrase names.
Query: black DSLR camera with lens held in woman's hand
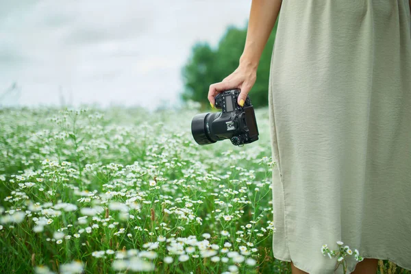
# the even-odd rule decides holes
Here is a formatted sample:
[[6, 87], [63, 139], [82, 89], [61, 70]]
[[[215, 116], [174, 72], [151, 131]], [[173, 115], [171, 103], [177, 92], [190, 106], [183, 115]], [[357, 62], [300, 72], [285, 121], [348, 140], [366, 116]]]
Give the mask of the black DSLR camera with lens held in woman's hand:
[[191, 121], [191, 133], [199, 145], [229, 139], [242, 146], [258, 140], [258, 127], [253, 105], [247, 96], [243, 106], [238, 105], [238, 88], [216, 95], [215, 107], [221, 112], [197, 114]]

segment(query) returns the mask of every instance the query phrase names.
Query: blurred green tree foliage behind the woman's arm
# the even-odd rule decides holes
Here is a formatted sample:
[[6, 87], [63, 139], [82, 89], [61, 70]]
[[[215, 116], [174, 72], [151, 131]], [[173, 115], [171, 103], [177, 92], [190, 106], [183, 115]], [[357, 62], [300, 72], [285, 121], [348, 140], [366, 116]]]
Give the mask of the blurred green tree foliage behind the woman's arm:
[[[243, 28], [229, 26], [216, 49], [212, 49], [208, 42], [197, 42], [192, 47], [190, 58], [182, 69], [184, 91], [181, 96], [184, 101], [197, 101], [203, 108], [209, 105], [207, 95], [210, 84], [221, 82], [238, 66], [247, 37], [247, 25]], [[249, 92], [256, 108], [268, 105], [271, 53], [276, 31], [277, 23], [262, 52], [256, 84]]]

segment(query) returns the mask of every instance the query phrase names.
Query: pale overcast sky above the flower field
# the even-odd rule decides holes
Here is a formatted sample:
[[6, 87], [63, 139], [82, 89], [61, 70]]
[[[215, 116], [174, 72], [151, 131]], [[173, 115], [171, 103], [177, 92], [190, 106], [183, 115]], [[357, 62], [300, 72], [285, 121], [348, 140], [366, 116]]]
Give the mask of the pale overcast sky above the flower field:
[[0, 106], [154, 110], [179, 105], [192, 45], [215, 47], [229, 25], [244, 27], [251, 0], [0, 0], [0, 7]]

